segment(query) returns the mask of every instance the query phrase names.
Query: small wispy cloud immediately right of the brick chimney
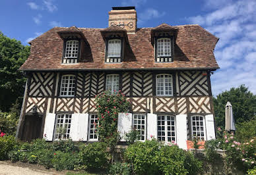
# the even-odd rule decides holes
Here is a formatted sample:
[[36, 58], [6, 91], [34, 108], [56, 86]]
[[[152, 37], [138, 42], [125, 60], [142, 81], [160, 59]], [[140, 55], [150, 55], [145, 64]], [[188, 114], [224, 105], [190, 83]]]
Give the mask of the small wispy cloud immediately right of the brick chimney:
[[150, 20], [152, 18], [160, 18], [164, 16], [166, 13], [165, 12], [159, 12], [156, 9], [146, 9], [143, 11], [143, 13], [138, 14], [138, 23], [143, 24], [147, 20]]

